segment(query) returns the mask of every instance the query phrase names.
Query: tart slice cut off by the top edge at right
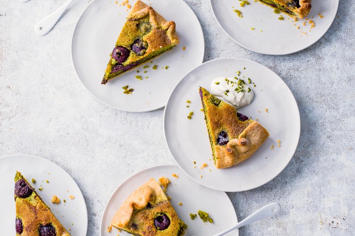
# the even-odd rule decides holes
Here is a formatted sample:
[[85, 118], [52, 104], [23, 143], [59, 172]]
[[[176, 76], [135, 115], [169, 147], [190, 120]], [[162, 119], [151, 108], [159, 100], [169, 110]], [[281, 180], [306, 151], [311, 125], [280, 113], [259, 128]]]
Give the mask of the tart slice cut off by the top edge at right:
[[291, 17], [304, 18], [310, 12], [311, 0], [258, 0], [269, 7], [280, 10]]

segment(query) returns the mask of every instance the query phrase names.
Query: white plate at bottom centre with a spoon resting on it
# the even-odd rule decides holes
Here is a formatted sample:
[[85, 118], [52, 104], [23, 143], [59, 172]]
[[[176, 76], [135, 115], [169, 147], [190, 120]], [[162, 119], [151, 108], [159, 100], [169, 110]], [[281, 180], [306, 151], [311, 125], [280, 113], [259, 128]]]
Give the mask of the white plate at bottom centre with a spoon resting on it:
[[[179, 175], [179, 178], [172, 177], [172, 174]], [[100, 235], [116, 235], [118, 232], [116, 228], [113, 227], [111, 233], [107, 231], [107, 228], [111, 225], [111, 220], [122, 203], [136, 188], [151, 178], [158, 181], [162, 176], [171, 181], [166, 191], [166, 194], [171, 197], [171, 205], [179, 218], [189, 226], [185, 235], [212, 235], [238, 222], [234, 207], [225, 192], [201, 186], [192, 181], [177, 166], [157, 166], [132, 175], [118, 186], [103, 211]], [[179, 206], [180, 202], [182, 206]], [[209, 213], [214, 223], [203, 223], [198, 216], [191, 220], [190, 213], [197, 214], [198, 210]], [[124, 231], [119, 234], [120, 236], [131, 235]], [[238, 230], [226, 235], [237, 236]]]

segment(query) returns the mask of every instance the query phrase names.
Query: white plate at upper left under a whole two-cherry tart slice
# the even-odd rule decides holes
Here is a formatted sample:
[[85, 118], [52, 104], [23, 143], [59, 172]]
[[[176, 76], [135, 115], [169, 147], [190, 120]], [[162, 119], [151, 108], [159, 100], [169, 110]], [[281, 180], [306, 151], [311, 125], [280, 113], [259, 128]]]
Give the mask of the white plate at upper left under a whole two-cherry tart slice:
[[[73, 34], [73, 63], [81, 82], [98, 100], [120, 110], [149, 111], [165, 106], [181, 77], [203, 61], [203, 33], [190, 7], [183, 0], [144, 2], [151, 4], [166, 20], [176, 23], [180, 44], [154, 58], [153, 63], [148, 62], [125, 72], [106, 85], [101, 85], [101, 80], [126, 21], [127, 7], [119, 7], [114, 0], [95, 0], [80, 17]], [[132, 6], [134, 3], [129, 2]], [[146, 65], [150, 67], [144, 69]], [[158, 66], [157, 70], [152, 69], [154, 65]], [[169, 68], [165, 69], [165, 66]], [[144, 73], [145, 70], [147, 73]], [[144, 79], [139, 81], [136, 75]], [[149, 78], [146, 79], [146, 76]], [[122, 87], [126, 85], [134, 89], [132, 94], [123, 94]]]

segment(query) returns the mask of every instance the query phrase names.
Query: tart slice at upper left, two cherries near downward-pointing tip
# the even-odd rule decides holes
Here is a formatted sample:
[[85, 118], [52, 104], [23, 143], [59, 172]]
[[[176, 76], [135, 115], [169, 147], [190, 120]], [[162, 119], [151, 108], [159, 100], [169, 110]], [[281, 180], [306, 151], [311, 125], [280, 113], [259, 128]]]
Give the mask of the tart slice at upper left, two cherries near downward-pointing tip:
[[175, 23], [166, 21], [152, 7], [137, 1], [129, 12], [102, 79], [106, 84], [179, 44]]

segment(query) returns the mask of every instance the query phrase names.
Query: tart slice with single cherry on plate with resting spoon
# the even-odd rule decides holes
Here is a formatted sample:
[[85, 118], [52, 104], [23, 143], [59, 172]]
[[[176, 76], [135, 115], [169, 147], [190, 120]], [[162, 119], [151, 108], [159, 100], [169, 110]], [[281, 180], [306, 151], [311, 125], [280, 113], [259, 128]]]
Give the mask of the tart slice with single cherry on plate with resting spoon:
[[111, 225], [138, 236], [179, 236], [185, 228], [155, 179], [141, 185], [126, 199]]

